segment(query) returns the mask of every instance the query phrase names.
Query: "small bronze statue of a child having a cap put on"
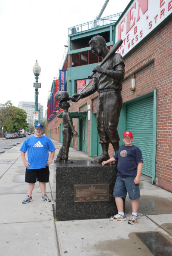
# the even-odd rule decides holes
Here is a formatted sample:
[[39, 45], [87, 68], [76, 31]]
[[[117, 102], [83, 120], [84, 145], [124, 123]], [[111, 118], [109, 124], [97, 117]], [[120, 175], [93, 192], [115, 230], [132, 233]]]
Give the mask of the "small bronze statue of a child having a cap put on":
[[[60, 100], [59, 100], [60, 99]], [[63, 144], [58, 152], [56, 161], [68, 160], [69, 147], [71, 144], [72, 137], [78, 137], [78, 133], [74, 130], [71, 115], [68, 112], [70, 104], [67, 100], [71, 99], [67, 92], [55, 93], [55, 101], [59, 100], [58, 106], [63, 109]]]

